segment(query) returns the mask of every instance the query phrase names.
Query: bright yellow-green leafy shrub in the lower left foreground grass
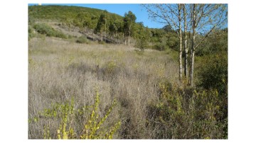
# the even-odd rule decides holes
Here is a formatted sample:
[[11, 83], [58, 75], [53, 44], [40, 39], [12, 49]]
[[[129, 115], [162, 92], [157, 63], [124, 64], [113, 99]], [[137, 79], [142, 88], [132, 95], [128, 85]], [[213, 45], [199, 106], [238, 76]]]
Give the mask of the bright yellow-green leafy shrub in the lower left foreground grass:
[[[43, 130], [43, 139], [112, 139], [113, 135], [119, 129], [121, 122], [115, 122], [111, 127], [104, 127], [104, 122], [109, 117], [112, 109], [117, 104], [114, 99], [112, 105], [107, 110], [107, 113], [100, 117], [98, 113], [98, 107], [100, 104], [100, 94], [97, 92], [95, 96], [95, 103], [90, 106], [85, 106], [82, 108], [75, 108], [74, 100], [70, 102], [53, 103], [51, 108], [46, 108], [39, 113], [38, 117], [31, 117], [28, 119], [29, 124], [38, 122], [38, 120], [55, 120], [58, 122], [60, 120], [60, 125], [58, 129], [55, 129], [54, 132], [50, 132], [50, 123], [46, 121], [46, 124], [43, 127], [38, 127]], [[73, 127], [74, 122], [82, 121], [87, 115], [89, 108], [92, 108], [90, 116], [88, 117], [87, 122], [82, 131], [75, 130]], [[79, 119], [79, 120], [78, 120]], [[52, 136], [51, 136], [52, 135]]]

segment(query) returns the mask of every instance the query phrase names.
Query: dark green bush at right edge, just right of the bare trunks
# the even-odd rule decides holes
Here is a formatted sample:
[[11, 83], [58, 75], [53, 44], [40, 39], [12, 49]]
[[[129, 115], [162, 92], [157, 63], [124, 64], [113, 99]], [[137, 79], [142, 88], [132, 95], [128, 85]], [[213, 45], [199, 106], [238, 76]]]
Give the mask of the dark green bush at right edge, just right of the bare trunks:
[[196, 70], [198, 71], [197, 85], [199, 88], [218, 91], [218, 101], [223, 110], [220, 120], [226, 120], [228, 118], [228, 54], [219, 52], [215, 55], [205, 56], [201, 67]]

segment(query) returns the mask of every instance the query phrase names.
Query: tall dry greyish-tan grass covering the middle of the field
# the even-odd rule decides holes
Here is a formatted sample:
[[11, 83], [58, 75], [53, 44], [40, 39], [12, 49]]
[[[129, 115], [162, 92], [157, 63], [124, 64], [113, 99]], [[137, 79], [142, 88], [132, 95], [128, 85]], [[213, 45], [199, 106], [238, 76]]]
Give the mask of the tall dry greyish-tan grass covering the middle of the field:
[[[137, 52], [123, 45], [86, 45], [59, 38], [33, 38], [28, 42], [28, 115], [33, 117], [51, 103], [75, 98], [75, 108], [91, 105], [95, 89], [101, 94], [100, 112], [117, 98], [110, 115], [121, 119], [114, 138], [151, 138], [146, 128], [146, 106], [157, 101], [159, 81], [178, 79], [178, 65], [170, 55], [155, 50]], [[28, 118], [29, 118], [28, 117]], [[28, 124], [28, 138], [43, 137], [43, 125], [50, 122], [56, 132], [59, 122], [39, 120]], [[84, 121], [75, 126], [81, 130]], [[79, 132], [79, 131], [78, 131]]]

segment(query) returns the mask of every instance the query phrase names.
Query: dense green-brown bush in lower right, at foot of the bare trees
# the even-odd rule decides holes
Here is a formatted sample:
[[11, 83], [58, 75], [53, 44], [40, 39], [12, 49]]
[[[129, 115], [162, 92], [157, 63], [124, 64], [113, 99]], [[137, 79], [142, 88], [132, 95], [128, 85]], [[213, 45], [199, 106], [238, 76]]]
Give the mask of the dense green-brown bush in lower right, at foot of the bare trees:
[[217, 90], [159, 84], [159, 101], [148, 106], [147, 127], [155, 139], [227, 139], [228, 118]]

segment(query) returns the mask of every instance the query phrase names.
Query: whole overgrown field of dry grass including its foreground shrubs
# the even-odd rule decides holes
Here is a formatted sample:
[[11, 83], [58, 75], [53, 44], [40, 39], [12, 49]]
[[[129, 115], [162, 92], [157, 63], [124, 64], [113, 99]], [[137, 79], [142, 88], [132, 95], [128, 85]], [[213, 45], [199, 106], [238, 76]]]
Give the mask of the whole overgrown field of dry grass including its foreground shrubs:
[[227, 138], [227, 95], [176, 84], [177, 56], [32, 38], [28, 139]]

